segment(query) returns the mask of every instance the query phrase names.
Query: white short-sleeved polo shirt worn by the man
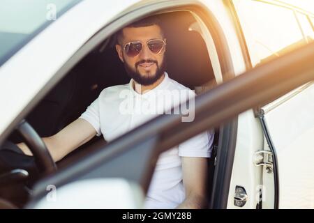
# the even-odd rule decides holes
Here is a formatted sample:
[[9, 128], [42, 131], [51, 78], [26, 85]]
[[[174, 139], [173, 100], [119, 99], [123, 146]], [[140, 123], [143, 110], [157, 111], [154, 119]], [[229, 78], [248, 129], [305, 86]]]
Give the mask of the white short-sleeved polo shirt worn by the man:
[[[128, 84], [104, 89], [80, 118], [94, 126], [97, 136], [103, 134], [106, 141], [112, 141], [158, 114], [169, 114], [165, 111], [189, 98], [188, 108], [193, 109], [194, 97], [193, 91], [170, 79], [165, 72], [163, 81], [147, 93], [137, 93], [132, 79]], [[190, 113], [184, 114], [190, 116]], [[203, 132], [160, 154], [144, 208], [175, 208], [184, 201], [181, 157], [211, 157], [213, 140], [213, 132]]]

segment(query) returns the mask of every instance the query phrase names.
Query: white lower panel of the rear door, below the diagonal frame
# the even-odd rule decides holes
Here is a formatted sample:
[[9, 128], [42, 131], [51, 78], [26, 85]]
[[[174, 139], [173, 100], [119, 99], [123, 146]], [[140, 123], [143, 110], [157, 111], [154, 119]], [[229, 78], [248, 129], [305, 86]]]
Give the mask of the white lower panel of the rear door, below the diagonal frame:
[[263, 107], [278, 161], [279, 208], [314, 208], [314, 84]]

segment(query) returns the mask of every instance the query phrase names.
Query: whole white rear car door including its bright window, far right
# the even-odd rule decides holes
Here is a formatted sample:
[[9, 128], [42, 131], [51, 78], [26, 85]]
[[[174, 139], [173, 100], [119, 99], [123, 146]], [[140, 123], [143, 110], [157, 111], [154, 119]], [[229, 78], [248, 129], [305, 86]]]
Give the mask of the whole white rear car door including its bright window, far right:
[[[313, 41], [314, 8], [294, 8], [276, 1], [232, 2], [253, 67]], [[267, 17], [260, 20], [265, 13]], [[308, 161], [313, 155], [313, 87], [308, 82], [256, 109], [264, 132], [264, 146], [254, 157], [262, 160], [255, 161], [257, 168], [262, 167], [262, 208], [313, 208], [310, 176], [314, 167]]]

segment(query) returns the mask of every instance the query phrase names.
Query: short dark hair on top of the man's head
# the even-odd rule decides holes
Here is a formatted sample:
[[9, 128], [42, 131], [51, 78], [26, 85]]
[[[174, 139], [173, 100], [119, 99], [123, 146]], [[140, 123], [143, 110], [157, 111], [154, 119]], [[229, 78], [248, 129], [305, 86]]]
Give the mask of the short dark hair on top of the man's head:
[[[160, 27], [161, 34], [162, 34], [162, 36], [164, 36], [160, 19], [156, 15], [151, 15], [149, 17], [144, 17], [142, 20], [137, 20], [137, 21], [135, 21], [135, 22], [133, 22], [131, 24], [128, 24], [128, 25], [124, 26], [124, 28], [126, 28], [126, 27], [146, 27], [146, 26], [154, 26], [154, 25], [157, 25], [157, 26]], [[122, 28], [119, 31], [117, 31], [117, 34], [116, 34], [116, 43], [117, 44], [120, 44], [122, 42], [121, 40], [122, 40], [122, 38], [124, 36], [124, 33], [122, 32], [122, 30], [124, 28]]]

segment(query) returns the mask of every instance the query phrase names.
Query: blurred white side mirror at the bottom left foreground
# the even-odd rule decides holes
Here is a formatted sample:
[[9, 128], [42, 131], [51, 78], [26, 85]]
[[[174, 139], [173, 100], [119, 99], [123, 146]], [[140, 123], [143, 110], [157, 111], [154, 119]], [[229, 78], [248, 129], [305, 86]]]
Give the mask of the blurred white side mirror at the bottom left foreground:
[[60, 188], [47, 186], [47, 194], [25, 208], [138, 209], [144, 204], [142, 188], [123, 178], [78, 180]]

